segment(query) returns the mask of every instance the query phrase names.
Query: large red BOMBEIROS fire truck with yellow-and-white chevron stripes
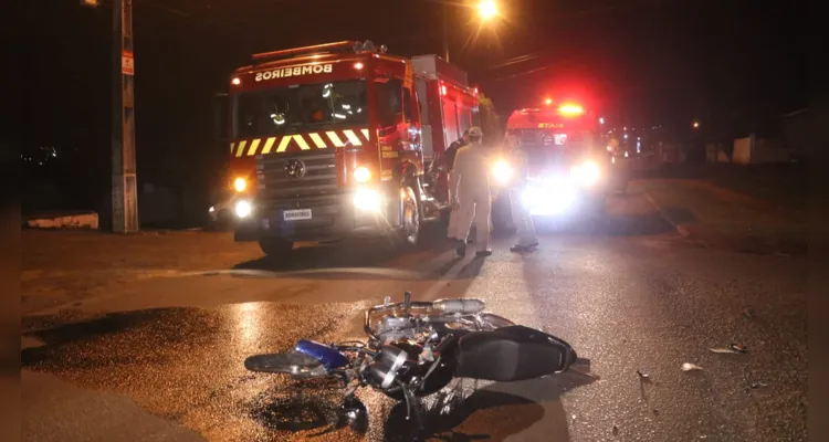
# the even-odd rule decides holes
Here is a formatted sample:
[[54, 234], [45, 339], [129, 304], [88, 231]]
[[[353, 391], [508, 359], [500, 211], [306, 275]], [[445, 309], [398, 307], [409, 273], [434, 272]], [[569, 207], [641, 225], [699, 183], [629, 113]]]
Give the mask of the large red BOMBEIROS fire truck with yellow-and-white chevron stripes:
[[237, 241], [411, 246], [448, 209], [441, 154], [478, 116], [461, 70], [348, 41], [255, 54], [230, 84]]

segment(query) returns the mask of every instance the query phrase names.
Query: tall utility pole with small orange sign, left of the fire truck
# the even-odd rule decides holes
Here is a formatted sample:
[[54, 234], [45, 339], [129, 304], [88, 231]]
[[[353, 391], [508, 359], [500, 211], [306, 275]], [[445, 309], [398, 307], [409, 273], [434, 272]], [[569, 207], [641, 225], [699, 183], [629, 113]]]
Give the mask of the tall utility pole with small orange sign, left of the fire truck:
[[113, 231], [138, 231], [133, 0], [113, 0]]

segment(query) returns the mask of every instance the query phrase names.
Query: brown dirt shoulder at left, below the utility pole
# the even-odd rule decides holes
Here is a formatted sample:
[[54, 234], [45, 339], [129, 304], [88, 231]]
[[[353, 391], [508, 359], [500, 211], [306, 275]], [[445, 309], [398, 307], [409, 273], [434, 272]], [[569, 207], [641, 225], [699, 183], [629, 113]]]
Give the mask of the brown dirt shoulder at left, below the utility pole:
[[231, 269], [262, 255], [231, 233], [158, 231], [119, 235], [99, 231], [21, 232], [23, 315], [106, 293], [134, 281], [183, 272]]

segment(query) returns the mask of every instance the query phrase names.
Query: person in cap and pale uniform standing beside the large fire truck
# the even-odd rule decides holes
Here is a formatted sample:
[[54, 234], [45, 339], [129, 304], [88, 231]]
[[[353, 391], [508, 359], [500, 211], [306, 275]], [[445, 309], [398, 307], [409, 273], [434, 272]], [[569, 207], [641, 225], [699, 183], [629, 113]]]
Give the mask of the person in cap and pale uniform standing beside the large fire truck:
[[454, 159], [454, 172], [450, 177], [449, 194], [452, 204], [458, 208], [458, 224], [454, 238], [458, 238], [458, 255], [466, 254], [472, 220], [475, 221], [478, 244], [476, 256], [489, 256], [490, 243], [490, 161], [482, 145], [483, 131], [475, 126], [469, 130], [470, 144], [458, 150]]

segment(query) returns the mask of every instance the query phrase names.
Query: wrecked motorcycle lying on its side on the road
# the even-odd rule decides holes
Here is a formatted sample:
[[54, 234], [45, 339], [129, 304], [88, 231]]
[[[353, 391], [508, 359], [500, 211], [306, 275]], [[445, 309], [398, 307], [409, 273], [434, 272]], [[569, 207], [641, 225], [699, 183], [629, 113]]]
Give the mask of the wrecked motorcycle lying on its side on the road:
[[483, 312], [474, 298], [402, 303], [366, 311], [367, 343], [325, 345], [300, 340], [290, 352], [255, 355], [251, 371], [286, 373], [294, 379], [334, 377], [345, 386], [342, 409], [350, 419], [365, 412], [355, 406], [358, 388], [371, 387], [406, 402], [407, 420], [420, 429], [420, 398], [438, 392], [454, 378], [491, 381], [535, 379], [566, 371], [576, 362], [569, 344], [510, 319]]

